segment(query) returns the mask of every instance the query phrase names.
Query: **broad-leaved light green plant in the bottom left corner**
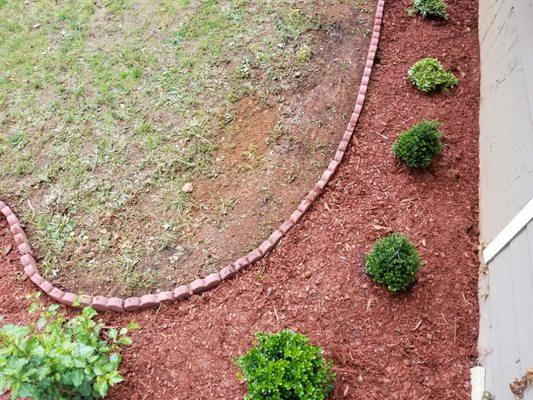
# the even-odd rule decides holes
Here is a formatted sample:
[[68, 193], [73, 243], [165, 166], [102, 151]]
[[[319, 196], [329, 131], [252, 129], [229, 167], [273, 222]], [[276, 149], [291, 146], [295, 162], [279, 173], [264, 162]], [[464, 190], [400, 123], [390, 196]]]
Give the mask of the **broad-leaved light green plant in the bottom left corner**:
[[9, 390], [12, 400], [99, 399], [124, 380], [118, 350], [132, 343], [128, 328], [104, 328], [91, 307], [72, 319], [58, 308], [34, 304], [36, 322], [0, 328], [0, 393]]

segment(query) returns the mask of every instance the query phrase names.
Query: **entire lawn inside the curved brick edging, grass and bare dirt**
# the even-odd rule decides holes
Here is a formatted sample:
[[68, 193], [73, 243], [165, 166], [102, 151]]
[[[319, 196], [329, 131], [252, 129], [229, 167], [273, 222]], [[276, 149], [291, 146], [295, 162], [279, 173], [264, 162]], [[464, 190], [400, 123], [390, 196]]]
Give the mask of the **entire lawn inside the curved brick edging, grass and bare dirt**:
[[373, 9], [0, 0], [0, 194], [48, 278], [163, 290], [264, 240], [333, 155]]

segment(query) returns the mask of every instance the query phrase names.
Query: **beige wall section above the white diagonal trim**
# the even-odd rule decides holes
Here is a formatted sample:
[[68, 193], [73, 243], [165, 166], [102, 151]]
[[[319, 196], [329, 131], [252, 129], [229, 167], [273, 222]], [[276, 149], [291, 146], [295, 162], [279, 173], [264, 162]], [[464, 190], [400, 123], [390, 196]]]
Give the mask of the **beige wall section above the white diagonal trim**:
[[480, 211], [490, 242], [533, 198], [533, 0], [480, 0]]

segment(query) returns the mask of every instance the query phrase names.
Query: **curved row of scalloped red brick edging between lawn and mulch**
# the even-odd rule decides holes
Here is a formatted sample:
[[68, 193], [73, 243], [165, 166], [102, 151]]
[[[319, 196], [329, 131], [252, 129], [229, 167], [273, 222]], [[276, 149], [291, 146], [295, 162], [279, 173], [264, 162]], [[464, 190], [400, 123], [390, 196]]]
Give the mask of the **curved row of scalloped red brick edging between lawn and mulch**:
[[370, 75], [372, 73], [372, 67], [374, 65], [374, 59], [378, 48], [379, 36], [381, 32], [381, 22], [383, 20], [383, 7], [385, 0], [378, 0], [376, 9], [376, 15], [374, 18], [374, 28], [372, 31], [372, 38], [370, 39], [370, 45], [368, 49], [368, 55], [366, 59], [365, 69], [363, 72], [363, 78], [361, 79], [361, 86], [359, 87], [359, 94], [355, 103], [355, 108], [350, 118], [350, 122], [342, 136], [341, 142], [337, 147], [337, 152], [333, 157], [333, 160], [329, 163], [328, 168], [322, 174], [320, 180], [315, 184], [313, 189], [305, 196], [296, 211], [292, 213], [290, 218], [285, 221], [281, 226], [270, 235], [259, 247], [252, 250], [245, 257], [239, 258], [237, 261], [222, 268], [219, 272], [207, 275], [205, 278], [196, 279], [189, 285], [181, 285], [172, 291], [165, 291], [158, 294], [147, 294], [141, 297], [129, 297], [122, 299], [119, 297], [104, 297], [104, 296], [88, 296], [88, 295], [76, 295], [70, 292], [64, 292], [63, 290], [53, 286], [49, 281], [41, 276], [37, 269], [37, 262], [33, 257], [33, 252], [26, 239], [24, 229], [13, 211], [4, 203], [0, 201], [0, 212], [7, 218], [9, 229], [13, 234], [15, 245], [20, 253], [20, 262], [24, 267], [24, 273], [35, 283], [43, 292], [48, 294], [55, 301], [72, 306], [74, 301], [78, 299], [82, 306], [91, 305], [98, 311], [136, 311], [143, 308], [154, 307], [163, 302], [169, 302], [173, 300], [185, 300], [193, 294], [200, 294], [209, 289], [214, 288], [220, 282], [230, 279], [241, 269], [247, 267], [250, 264], [257, 262], [268, 254], [276, 244], [283, 238], [286, 233], [302, 218], [302, 216], [309, 210], [311, 204], [320, 197], [324, 192], [324, 189], [332, 176], [337, 171], [340, 162], [342, 161], [348, 143], [354, 134], [355, 126], [359, 120], [359, 115], [363, 109], [363, 104], [368, 90], [368, 83]]

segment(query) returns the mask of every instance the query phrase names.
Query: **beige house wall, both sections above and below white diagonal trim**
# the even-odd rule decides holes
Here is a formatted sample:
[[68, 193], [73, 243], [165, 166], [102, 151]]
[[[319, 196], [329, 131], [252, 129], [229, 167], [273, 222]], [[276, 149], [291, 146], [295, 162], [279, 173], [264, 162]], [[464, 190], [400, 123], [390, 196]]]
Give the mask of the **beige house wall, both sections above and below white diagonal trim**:
[[[480, 228], [490, 243], [533, 198], [533, 0], [479, 8]], [[487, 390], [512, 400], [509, 384], [533, 369], [533, 221], [485, 267], [480, 361]]]

